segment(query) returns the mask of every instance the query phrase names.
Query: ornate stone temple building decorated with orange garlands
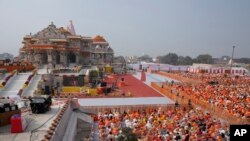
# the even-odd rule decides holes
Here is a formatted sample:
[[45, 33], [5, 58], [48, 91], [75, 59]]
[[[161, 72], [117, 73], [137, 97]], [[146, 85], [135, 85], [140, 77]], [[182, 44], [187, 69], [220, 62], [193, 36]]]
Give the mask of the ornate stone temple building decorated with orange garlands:
[[23, 38], [20, 58], [36, 66], [47, 64], [49, 68], [67, 67], [69, 64], [110, 64], [114, 51], [100, 35], [87, 37], [76, 35], [72, 21], [67, 29], [57, 28], [53, 22], [34, 35]]

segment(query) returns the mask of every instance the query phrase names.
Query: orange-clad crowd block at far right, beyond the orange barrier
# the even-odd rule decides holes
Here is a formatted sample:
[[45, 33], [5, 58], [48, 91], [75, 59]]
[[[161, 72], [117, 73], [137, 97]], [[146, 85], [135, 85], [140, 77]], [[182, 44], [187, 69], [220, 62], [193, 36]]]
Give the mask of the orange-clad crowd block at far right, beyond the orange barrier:
[[250, 78], [230, 77], [221, 74], [183, 74], [183, 77], [199, 79], [204, 83], [175, 84], [173, 90], [189, 95], [193, 101], [205, 101], [235, 117], [250, 119]]

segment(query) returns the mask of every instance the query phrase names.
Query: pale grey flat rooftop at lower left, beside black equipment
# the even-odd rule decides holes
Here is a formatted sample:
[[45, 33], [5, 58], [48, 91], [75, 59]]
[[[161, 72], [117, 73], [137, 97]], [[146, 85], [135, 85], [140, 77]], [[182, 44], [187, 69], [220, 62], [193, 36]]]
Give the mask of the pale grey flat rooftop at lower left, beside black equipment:
[[44, 114], [33, 114], [31, 111], [23, 111], [22, 117], [25, 118], [27, 127], [23, 133], [11, 133], [11, 125], [0, 127], [0, 140], [5, 141], [25, 141], [42, 140], [53, 120], [64, 105], [63, 101], [54, 101], [51, 110]]

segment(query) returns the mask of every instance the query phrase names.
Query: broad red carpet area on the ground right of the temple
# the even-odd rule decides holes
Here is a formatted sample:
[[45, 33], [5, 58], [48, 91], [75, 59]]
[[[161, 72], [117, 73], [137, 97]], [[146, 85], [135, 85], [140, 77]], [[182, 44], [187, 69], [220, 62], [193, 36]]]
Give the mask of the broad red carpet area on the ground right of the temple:
[[163, 97], [160, 93], [130, 74], [120, 77], [123, 77], [125, 81], [125, 86], [121, 87], [121, 89], [125, 93], [130, 92], [132, 97]]

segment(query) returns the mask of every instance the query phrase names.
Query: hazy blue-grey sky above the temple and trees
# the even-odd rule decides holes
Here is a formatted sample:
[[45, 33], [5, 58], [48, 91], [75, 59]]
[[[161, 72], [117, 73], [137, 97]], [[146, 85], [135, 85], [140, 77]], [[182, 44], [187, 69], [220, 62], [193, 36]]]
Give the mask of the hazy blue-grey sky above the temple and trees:
[[102, 35], [115, 55], [250, 57], [249, 0], [0, 0], [0, 53], [18, 54], [24, 35], [73, 20]]

